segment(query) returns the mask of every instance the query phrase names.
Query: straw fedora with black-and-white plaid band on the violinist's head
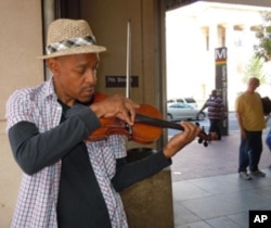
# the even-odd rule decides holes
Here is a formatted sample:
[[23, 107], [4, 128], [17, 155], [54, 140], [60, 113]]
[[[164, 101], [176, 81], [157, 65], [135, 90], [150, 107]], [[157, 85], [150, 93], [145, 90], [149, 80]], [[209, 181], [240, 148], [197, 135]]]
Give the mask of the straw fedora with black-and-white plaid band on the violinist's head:
[[99, 53], [106, 51], [106, 48], [95, 43], [95, 37], [86, 21], [60, 18], [49, 26], [46, 51], [38, 59]]

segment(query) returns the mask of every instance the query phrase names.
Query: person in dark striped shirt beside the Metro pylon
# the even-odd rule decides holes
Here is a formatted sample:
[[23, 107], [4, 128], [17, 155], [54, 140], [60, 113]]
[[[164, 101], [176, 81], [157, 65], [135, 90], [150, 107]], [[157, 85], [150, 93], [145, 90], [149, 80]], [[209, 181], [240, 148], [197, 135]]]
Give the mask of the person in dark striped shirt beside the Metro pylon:
[[216, 132], [218, 140], [221, 140], [221, 121], [225, 118], [225, 106], [222, 99], [218, 96], [216, 89], [211, 90], [211, 94], [198, 111], [197, 115], [208, 107], [209, 134]]

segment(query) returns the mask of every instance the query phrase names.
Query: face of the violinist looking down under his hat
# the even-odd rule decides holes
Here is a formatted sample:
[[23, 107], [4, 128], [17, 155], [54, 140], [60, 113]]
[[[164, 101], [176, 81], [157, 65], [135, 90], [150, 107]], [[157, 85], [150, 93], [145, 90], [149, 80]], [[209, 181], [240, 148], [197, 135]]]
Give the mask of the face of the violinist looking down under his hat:
[[94, 92], [99, 55], [74, 54], [49, 59], [48, 65], [54, 75], [59, 99], [67, 105], [75, 101], [88, 102]]

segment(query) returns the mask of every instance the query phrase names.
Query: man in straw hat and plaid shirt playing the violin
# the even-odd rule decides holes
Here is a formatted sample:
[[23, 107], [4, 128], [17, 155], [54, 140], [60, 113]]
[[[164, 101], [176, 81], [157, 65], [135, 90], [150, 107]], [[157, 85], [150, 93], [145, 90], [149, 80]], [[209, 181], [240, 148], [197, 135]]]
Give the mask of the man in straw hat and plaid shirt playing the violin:
[[54, 21], [40, 56], [53, 76], [8, 100], [7, 131], [24, 173], [11, 227], [128, 227], [118, 192], [169, 166], [199, 134], [183, 122], [183, 132], [137, 163], [126, 163], [124, 136], [86, 141], [101, 117], [133, 125], [139, 107], [121, 96], [92, 103], [103, 51], [85, 21]]

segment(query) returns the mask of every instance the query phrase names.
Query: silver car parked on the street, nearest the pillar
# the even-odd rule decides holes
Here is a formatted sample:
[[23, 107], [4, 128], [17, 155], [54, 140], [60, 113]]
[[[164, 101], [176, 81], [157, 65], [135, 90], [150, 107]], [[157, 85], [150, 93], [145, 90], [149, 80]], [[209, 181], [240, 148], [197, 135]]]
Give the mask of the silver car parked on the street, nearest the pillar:
[[193, 107], [190, 104], [183, 102], [168, 103], [167, 104], [167, 118], [170, 122], [173, 121], [190, 121], [197, 119], [203, 121], [206, 118], [206, 113], [201, 112], [197, 116], [199, 109]]

